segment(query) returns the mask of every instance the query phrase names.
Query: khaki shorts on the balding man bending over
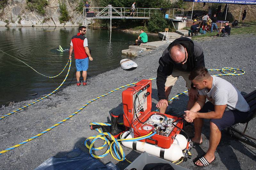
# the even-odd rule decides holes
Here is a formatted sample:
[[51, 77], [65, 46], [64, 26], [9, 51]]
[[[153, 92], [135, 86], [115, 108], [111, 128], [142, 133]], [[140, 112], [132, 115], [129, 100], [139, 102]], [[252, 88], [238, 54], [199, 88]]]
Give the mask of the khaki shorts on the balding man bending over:
[[169, 75], [165, 82], [165, 87], [170, 87], [175, 84], [175, 82], [178, 80], [179, 76], [182, 76], [184, 80], [186, 81], [186, 87], [188, 89], [191, 89], [191, 81], [188, 79], [190, 72], [184, 72], [177, 69], [173, 69], [173, 72], [171, 75]]

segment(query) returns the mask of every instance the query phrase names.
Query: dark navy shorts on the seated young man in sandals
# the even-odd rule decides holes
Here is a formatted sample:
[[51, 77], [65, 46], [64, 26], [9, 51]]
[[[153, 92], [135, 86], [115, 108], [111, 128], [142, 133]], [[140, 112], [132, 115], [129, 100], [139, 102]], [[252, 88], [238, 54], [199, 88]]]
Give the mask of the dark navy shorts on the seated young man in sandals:
[[[200, 113], [207, 113], [208, 110], [214, 111], [214, 105], [211, 102], [206, 102], [204, 107], [199, 111]], [[216, 124], [221, 131], [222, 129], [228, 128], [234, 124], [244, 122], [249, 117], [249, 112], [242, 112], [239, 110], [225, 110], [222, 118], [211, 119], [210, 122]]]

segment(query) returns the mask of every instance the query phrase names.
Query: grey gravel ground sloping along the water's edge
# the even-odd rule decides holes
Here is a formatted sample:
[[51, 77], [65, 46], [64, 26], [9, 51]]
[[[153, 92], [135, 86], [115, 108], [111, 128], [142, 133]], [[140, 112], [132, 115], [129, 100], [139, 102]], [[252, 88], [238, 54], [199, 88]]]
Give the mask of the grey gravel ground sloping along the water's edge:
[[[256, 89], [255, 65], [256, 65], [256, 36], [234, 35], [223, 38], [210, 38], [197, 40], [204, 49], [205, 65], [208, 69], [219, 69], [223, 67], [235, 67], [244, 69], [246, 74], [240, 76], [221, 76], [236, 86], [242, 94], [248, 94]], [[156, 77], [158, 60], [168, 44], [160, 46], [157, 50], [141, 53], [134, 59], [138, 67], [132, 71], [123, 70], [118, 67], [106, 73], [99, 74], [88, 80], [88, 85], [77, 87], [75, 84], [61, 89], [56, 94], [36, 103], [27, 109], [14, 113], [0, 120], [1, 151], [16, 145], [36, 134], [48, 129], [54, 124], [70, 116], [88, 101], [116, 89], [120, 86]], [[97, 62], [97, 56], [93, 56], [93, 62]], [[72, 64], [75, 62], [72, 61]], [[89, 68], [90, 69], [90, 68]], [[100, 69], [100, 68], [99, 68]], [[89, 71], [90, 72], [90, 71]], [[220, 72], [210, 72], [220, 74]], [[62, 75], [64, 76], [64, 74]], [[69, 75], [71, 76], [71, 75]], [[73, 148], [78, 147], [89, 153], [84, 146], [84, 140], [90, 136], [97, 135], [97, 131], [91, 131], [91, 122], [110, 122], [111, 112], [121, 114], [122, 91], [117, 90], [108, 96], [102, 97], [90, 103], [82, 111], [66, 122], [48, 131], [44, 135], [24, 144], [16, 149], [6, 152], [1, 157], [0, 169], [34, 169], [46, 159], [56, 156], [61, 157]], [[25, 89], [24, 89], [25, 90]], [[172, 88], [170, 97], [185, 91], [185, 81], [182, 77], [178, 79]], [[14, 103], [9, 107], [0, 109], [0, 116], [10, 113], [35, 100]], [[152, 110], [156, 109], [157, 88], [156, 80], [152, 81]], [[180, 96], [169, 104], [168, 112], [181, 114], [186, 109], [188, 96]], [[203, 145], [196, 146], [191, 150], [192, 159], [202, 156], [209, 146], [209, 121], [204, 121]], [[238, 124], [239, 129], [244, 124]], [[256, 118], [254, 118], [247, 129], [248, 134], [256, 138]], [[123, 146], [126, 158], [130, 161], [136, 159], [140, 152]], [[103, 151], [101, 152], [103, 153]], [[234, 140], [223, 131], [220, 144], [215, 152], [216, 161], [203, 169], [255, 169], [256, 149]], [[182, 162], [180, 166], [188, 169], [199, 169], [192, 159]], [[111, 161], [120, 169], [129, 165], [128, 162], [118, 162], [108, 156], [100, 159], [104, 164]]]

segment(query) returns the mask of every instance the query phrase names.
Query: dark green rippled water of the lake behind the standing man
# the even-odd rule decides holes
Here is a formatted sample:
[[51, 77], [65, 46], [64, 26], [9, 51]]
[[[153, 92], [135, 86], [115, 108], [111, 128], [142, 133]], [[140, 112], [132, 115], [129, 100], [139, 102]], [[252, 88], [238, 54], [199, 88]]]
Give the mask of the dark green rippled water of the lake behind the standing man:
[[[61, 45], [69, 49], [71, 37], [76, 35], [78, 27], [66, 27], [52, 30], [51, 27], [0, 27], [0, 49], [47, 76], [55, 76], [68, 62], [68, 52], [56, 49]], [[119, 67], [119, 62], [128, 56], [121, 51], [128, 49], [138, 35], [120, 31], [92, 30], [87, 28], [88, 46], [92, 50], [93, 61], [89, 62], [88, 78]], [[160, 40], [148, 36], [148, 41]], [[74, 54], [74, 52], [73, 52]], [[72, 55], [74, 59], [74, 55]], [[68, 66], [67, 66], [68, 68]], [[15, 101], [28, 100], [48, 94], [56, 89], [67, 74], [66, 70], [56, 78], [44, 77], [24, 63], [0, 52], [0, 107]], [[72, 60], [68, 78], [62, 87], [76, 83], [75, 60]], [[36, 96], [30, 94], [38, 93]]]

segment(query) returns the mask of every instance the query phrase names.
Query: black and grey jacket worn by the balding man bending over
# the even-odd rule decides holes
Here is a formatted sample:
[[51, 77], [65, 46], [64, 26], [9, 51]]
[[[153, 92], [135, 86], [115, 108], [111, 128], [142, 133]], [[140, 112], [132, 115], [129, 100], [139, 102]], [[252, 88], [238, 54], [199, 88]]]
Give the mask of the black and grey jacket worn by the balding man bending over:
[[[186, 47], [188, 59], [184, 65], [176, 65], [170, 57], [170, 49], [176, 44], [181, 44]], [[164, 87], [167, 76], [172, 74], [172, 71], [178, 69], [180, 71], [190, 72], [197, 66], [204, 66], [204, 53], [202, 47], [193, 42], [187, 37], [175, 39], [165, 50], [162, 57], [159, 59], [159, 67], [157, 69], [156, 85], [158, 90], [158, 99], [166, 99]], [[182, 68], [180, 68], [182, 67]]]

